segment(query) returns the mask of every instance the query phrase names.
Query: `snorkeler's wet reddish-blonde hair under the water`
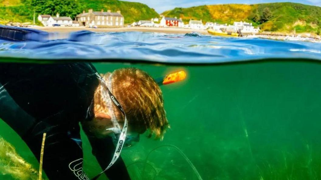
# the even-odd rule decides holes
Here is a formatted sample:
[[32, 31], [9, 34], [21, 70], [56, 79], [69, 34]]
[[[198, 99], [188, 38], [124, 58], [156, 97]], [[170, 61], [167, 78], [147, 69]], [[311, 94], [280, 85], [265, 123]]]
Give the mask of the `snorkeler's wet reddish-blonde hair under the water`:
[[[108, 81], [110, 73], [103, 78]], [[98, 91], [97, 91], [98, 90]], [[100, 88], [95, 92], [95, 112], [103, 111]], [[121, 103], [132, 131], [140, 134], [149, 130], [149, 137], [162, 139], [169, 127], [164, 110], [163, 94], [155, 80], [145, 71], [136, 68], [123, 68], [112, 73], [112, 93]], [[113, 104], [117, 119], [124, 116]]]

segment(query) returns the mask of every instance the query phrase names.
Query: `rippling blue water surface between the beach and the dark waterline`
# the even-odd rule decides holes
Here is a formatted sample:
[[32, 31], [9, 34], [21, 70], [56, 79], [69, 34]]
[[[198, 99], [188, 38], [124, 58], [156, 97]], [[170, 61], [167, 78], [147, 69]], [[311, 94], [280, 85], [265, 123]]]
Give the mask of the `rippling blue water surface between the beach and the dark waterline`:
[[127, 59], [215, 63], [266, 58], [321, 59], [321, 43], [148, 32], [75, 32], [51, 40], [0, 40], [0, 56], [35, 59]]

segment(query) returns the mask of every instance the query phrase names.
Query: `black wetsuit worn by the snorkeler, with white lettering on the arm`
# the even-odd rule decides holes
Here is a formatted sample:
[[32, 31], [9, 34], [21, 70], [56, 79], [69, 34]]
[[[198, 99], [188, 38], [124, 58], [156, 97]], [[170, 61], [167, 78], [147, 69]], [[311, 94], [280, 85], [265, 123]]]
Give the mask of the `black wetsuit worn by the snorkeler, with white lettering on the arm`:
[[[49, 180], [89, 179], [82, 170], [79, 122], [93, 118], [96, 72], [90, 63], [0, 63], [0, 118], [38, 160], [47, 133], [43, 169]], [[115, 149], [111, 139], [88, 137], [92, 153], [106, 168]], [[122, 159], [106, 175], [110, 180], [130, 179]]]

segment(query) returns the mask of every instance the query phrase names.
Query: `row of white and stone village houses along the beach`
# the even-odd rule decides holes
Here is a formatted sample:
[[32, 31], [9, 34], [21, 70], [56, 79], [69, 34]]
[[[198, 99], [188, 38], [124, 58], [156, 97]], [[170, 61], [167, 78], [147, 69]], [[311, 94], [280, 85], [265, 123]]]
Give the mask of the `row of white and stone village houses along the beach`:
[[151, 28], [181, 28], [181, 29], [213, 29], [218, 32], [232, 31], [240, 32], [243, 34], [256, 34], [259, 28], [255, 28], [249, 22], [234, 22], [233, 24], [219, 24], [217, 22], [203, 22], [202, 20], [189, 20], [185, 24], [182, 18], [155, 17], [151, 20], [139, 20], [132, 24], [124, 24], [124, 16], [121, 11], [112, 12], [111, 10], [93, 11], [89, 9], [87, 12], [84, 10], [78, 14], [75, 19], [71, 17], [56, 16], [48, 14], [40, 14], [38, 20], [46, 27], [65, 26], [65, 27], [88, 27], [88, 28], [121, 28], [121, 27], [151, 27]]

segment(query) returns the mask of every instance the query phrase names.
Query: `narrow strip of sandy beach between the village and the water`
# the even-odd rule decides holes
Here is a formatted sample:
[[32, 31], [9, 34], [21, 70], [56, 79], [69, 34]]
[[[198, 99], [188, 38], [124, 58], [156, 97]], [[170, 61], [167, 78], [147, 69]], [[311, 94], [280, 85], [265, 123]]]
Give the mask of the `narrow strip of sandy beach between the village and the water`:
[[147, 28], [147, 27], [130, 27], [130, 28], [85, 28], [85, 27], [31, 27], [33, 29], [39, 29], [47, 32], [62, 32], [69, 33], [80, 30], [89, 30], [94, 32], [128, 32], [128, 31], [140, 31], [140, 32], [157, 32], [157, 33], [171, 33], [171, 34], [186, 34], [191, 32], [197, 32], [200, 34], [208, 35], [207, 30], [201, 29], [182, 29], [182, 28]]

